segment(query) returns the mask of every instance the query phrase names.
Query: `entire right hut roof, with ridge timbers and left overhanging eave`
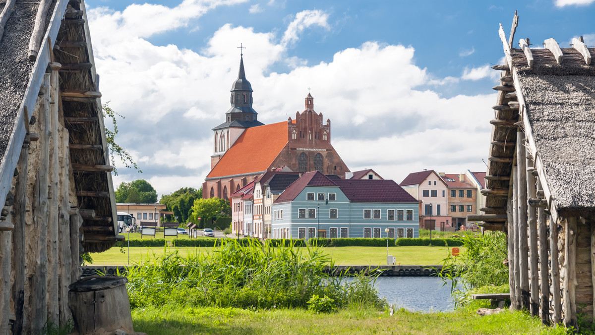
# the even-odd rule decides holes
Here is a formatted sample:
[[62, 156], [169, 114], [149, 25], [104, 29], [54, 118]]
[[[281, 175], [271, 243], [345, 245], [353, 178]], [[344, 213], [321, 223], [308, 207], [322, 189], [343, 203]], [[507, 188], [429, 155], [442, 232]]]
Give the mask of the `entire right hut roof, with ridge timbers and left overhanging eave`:
[[[514, 35], [514, 28], [512, 35]], [[540, 177], [547, 210], [558, 215], [595, 214], [595, 48], [573, 39], [571, 48], [559, 48], [554, 39], [546, 49], [511, 48], [502, 25], [500, 39], [506, 64], [494, 105], [494, 120], [486, 176], [487, 214], [503, 214], [515, 158], [516, 132], [524, 130], [527, 155]]]

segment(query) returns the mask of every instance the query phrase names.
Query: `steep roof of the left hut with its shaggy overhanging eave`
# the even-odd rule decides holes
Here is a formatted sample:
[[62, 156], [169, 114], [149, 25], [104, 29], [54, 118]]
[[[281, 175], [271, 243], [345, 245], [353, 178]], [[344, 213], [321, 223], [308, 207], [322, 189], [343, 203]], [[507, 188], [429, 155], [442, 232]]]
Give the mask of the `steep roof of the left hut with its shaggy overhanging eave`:
[[[95, 217], [84, 218], [83, 246], [90, 252], [104, 251], [119, 237], [99, 77], [84, 1], [50, 1], [45, 23], [37, 28], [39, 1], [8, 0], [0, 4], [0, 11], [8, 4], [12, 11], [0, 35], [0, 203], [10, 192], [21, 146], [30, 136], [27, 125], [35, 122], [31, 117], [43, 76], [50, 64], [60, 66], [60, 107], [70, 135], [76, 205], [95, 211]], [[39, 49], [32, 55], [29, 47], [35, 36], [39, 36]]]

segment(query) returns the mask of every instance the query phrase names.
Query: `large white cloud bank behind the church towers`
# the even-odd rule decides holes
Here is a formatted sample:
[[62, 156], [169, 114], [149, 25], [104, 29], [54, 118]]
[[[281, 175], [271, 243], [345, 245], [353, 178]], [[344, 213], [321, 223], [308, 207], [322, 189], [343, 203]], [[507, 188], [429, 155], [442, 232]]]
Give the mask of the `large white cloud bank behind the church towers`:
[[[217, 2], [223, 3], [230, 2]], [[129, 8], [89, 11], [104, 101], [111, 101], [110, 106], [127, 117], [119, 123], [118, 143], [129, 149], [145, 172], [120, 168], [116, 185], [143, 178], [160, 195], [184, 186], [201, 187], [211, 167], [211, 128], [223, 123], [230, 107], [229, 89], [237, 76], [239, 59], [230, 45], [240, 42], [248, 46], [246, 76], [259, 120], [273, 123], [295, 117], [312, 87], [315, 109], [332, 121], [333, 145], [352, 170], [372, 167], [397, 181], [422, 168], [484, 170], [481, 157], [486, 154], [494, 95], [442, 98], [433, 90], [418, 89], [459, 79], [428, 74], [415, 64], [412, 46], [366, 42], [336, 52], [331, 61], [310, 65], [305, 59], [288, 57], [287, 48], [308, 27], [329, 29], [328, 14], [303, 11], [281, 38], [274, 32], [225, 24], [196, 52], [148, 42], [143, 37], [146, 32], [122, 18]], [[167, 20], [178, 15], [186, 24], [195, 24], [186, 19], [189, 15], [167, 8], [140, 12], [147, 18], [155, 11], [165, 12]], [[270, 73], [274, 64], [290, 64], [291, 70]], [[461, 79], [489, 77], [488, 69], [488, 65], [466, 68]]]

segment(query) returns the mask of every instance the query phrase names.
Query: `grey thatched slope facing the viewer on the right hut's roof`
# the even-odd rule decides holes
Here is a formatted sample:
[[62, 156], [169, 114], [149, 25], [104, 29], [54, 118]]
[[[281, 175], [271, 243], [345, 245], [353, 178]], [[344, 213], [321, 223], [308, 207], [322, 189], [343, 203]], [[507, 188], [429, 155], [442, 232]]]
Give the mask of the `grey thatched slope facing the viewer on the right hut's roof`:
[[558, 211], [595, 211], [595, 64], [574, 48], [562, 49], [562, 64], [532, 52], [533, 67], [518, 49], [513, 64], [553, 201]]

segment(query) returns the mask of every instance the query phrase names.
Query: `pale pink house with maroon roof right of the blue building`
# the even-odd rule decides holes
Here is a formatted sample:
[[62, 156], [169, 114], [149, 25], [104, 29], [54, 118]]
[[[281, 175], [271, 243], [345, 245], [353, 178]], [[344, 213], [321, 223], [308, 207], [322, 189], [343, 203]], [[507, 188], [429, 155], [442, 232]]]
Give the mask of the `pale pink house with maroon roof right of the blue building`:
[[410, 173], [399, 186], [419, 201], [419, 228], [454, 230], [448, 215], [448, 185], [436, 171]]

